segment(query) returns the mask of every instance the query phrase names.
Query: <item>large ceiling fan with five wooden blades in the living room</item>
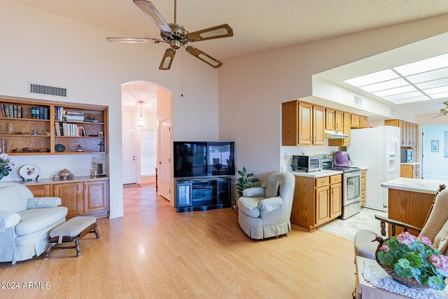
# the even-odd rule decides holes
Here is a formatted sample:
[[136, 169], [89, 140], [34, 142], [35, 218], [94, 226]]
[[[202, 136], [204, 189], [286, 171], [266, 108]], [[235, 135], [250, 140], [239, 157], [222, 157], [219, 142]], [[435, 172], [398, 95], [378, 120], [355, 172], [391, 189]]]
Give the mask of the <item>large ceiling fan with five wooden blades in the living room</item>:
[[216, 60], [207, 53], [202, 52], [193, 46], [186, 46], [189, 42], [207, 41], [209, 39], [222, 39], [224, 37], [233, 36], [233, 29], [228, 24], [218, 25], [207, 29], [202, 29], [196, 32], [188, 32], [186, 27], [176, 23], [176, 0], [174, 0], [174, 23], [169, 23], [164, 20], [162, 15], [155, 8], [151, 1], [133, 0], [134, 4], [139, 6], [151, 20], [155, 26], [160, 29], [161, 39], [152, 39], [148, 37], [129, 38], [129, 37], [108, 37], [108, 41], [115, 43], [168, 43], [171, 48], [168, 48], [163, 55], [162, 62], [160, 62], [159, 69], [167, 70], [171, 67], [176, 55], [176, 50], [183, 47], [188, 53], [209, 64], [211, 67], [217, 69], [223, 65], [223, 62]]

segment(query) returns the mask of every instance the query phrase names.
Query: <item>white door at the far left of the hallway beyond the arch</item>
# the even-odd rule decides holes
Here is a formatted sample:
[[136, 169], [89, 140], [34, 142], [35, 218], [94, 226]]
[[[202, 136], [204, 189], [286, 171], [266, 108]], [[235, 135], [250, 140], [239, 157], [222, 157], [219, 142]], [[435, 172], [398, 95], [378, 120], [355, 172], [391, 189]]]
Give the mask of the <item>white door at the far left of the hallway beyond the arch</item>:
[[123, 184], [137, 183], [135, 129], [123, 129]]

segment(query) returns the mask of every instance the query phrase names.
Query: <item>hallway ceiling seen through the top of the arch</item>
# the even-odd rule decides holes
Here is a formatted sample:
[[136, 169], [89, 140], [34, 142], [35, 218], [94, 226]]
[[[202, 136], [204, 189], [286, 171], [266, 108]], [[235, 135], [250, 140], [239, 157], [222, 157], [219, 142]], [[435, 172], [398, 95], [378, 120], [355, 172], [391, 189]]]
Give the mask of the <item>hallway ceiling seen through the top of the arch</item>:
[[157, 86], [151, 83], [134, 82], [125, 83], [121, 87], [121, 106], [125, 110], [140, 110], [139, 101], [142, 101], [142, 109], [151, 113], [157, 113]]

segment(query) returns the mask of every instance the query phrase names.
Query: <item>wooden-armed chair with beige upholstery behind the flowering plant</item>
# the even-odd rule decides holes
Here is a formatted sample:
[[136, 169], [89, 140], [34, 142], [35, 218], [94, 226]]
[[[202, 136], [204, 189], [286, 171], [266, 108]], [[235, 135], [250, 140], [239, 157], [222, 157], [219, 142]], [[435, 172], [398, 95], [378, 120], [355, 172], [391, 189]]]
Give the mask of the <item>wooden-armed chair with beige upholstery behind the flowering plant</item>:
[[[408, 229], [416, 230], [420, 232], [423, 237], [428, 237], [433, 247], [439, 249], [439, 251], [445, 256], [448, 255], [448, 190], [443, 190], [437, 194], [428, 219], [426, 220], [423, 228], [416, 228], [412, 225], [394, 221], [388, 218], [375, 215], [375, 218], [381, 222], [381, 237], [386, 237], [386, 223], [392, 225], [392, 232], [395, 235], [395, 225], [404, 228], [404, 231]], [[372, 242], [377, 237], [375, 232], [371, 230], [358, 230], [353, 240], [355, 247], [355, 255], [362, 256], [363, 258], [375, 258], [375, 251], [377, 250], [378, 242]]]

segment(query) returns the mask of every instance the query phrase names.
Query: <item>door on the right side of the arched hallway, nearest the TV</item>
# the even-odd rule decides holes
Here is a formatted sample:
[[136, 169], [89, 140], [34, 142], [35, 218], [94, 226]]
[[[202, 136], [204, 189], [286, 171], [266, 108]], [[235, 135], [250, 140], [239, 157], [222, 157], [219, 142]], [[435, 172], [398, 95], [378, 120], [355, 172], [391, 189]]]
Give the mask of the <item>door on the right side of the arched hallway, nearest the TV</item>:
[[171, 149], [171, 132], [170, 121], [162, 120], [159, 123], [159, 169], [158, 169], [158, 191], [159, 194], [170, 200], [171, 185], [171, 165], [170, 165], [170, 149]]

